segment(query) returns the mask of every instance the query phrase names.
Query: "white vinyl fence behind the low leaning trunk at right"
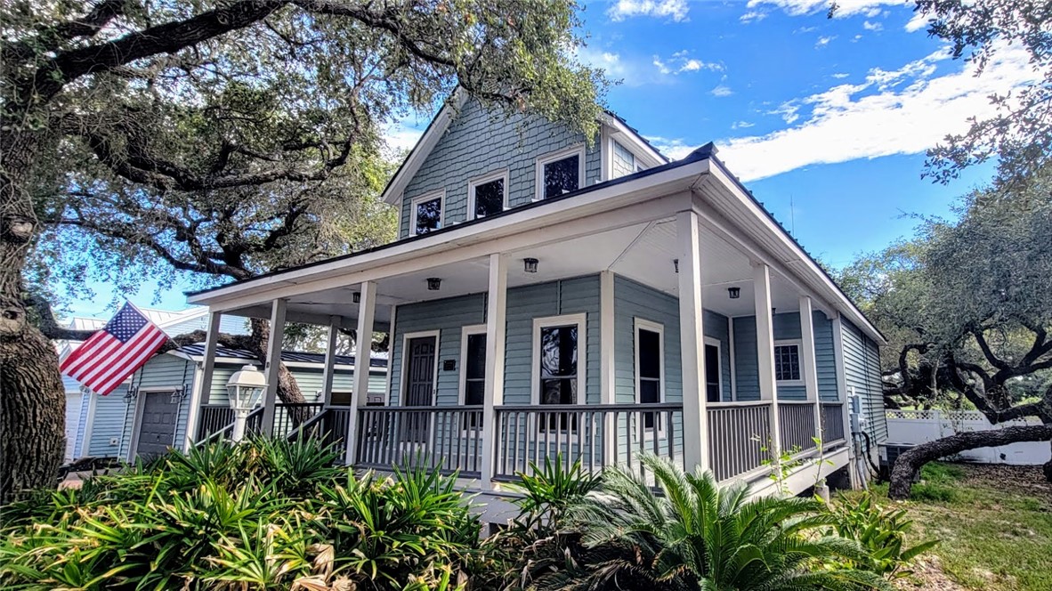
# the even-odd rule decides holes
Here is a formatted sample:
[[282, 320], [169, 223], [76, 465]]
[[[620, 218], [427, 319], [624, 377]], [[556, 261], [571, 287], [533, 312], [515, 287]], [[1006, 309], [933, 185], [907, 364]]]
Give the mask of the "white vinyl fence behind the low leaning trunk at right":
[[[1039, 424], [1036, 419], [1010, 421], [996, 426], [975, 410], [888, 410], [888, 444], [917, 445], [965, 431], [985, 431]], [[1027, 442], [985, 447], [960, 453], [959, 460], [982, 464], [1045, 464], [1052, 456], [1049, 442]]]

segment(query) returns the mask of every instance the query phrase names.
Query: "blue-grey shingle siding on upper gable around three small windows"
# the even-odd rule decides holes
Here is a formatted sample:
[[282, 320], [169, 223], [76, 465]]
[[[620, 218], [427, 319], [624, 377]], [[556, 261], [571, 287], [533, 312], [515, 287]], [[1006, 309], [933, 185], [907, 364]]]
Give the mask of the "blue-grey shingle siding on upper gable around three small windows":
[[[508, 170], [508, 205], [529, 203], [535, 196], [537, 158], [585, 143], [583, 135], [565, 125], [537, 117], [494, 115], [468, 101], [406, 185], [399, 236], [409, 236], [412, 198], [445, 189], [443, 225], [463, 222], [469, 219], [468, 181], [501, 169]], [[586, 147], [582, 187], [598, 183], [600, 169], [595, 142]]]

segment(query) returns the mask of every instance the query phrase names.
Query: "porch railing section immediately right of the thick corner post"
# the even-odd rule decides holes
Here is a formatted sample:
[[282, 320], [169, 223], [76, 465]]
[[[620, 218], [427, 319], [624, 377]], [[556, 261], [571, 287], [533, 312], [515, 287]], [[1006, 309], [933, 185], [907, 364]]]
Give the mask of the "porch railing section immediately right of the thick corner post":
[[716, 480], [751, 472], [769, 460], [770, 401], [710, 403], [707, 412], [709, 467]]

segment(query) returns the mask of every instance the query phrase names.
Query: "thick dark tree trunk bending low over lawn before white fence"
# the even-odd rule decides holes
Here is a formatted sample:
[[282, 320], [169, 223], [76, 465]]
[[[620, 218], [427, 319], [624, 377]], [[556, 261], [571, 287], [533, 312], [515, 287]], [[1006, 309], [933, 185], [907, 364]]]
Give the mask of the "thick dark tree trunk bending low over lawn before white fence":
[[[996, 447], [1019, 442], [1052, 440], [1052, 425], [1027, 425], [988, 431], [969, 431], [920, 444], [895, 460], [891, 470], [888, 496], [898, 501], [909, 498], [913, 476], [929, 462], [980, 447]], [[1046, 468], [1047, 470], [1047, 468]]]

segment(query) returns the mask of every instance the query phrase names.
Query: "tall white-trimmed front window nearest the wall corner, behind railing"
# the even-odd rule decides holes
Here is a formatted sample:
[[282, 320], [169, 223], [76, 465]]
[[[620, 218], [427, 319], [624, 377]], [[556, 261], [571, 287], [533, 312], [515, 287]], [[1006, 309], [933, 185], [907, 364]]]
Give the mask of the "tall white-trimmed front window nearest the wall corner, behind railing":
[[[585, 314], [533, 321], [534, 396], [539, 404], [580, 402], [584, 392], [584, 331]], [[568, 413], [553, 415], [548, 428], [573, 428], [573, 422]]]

